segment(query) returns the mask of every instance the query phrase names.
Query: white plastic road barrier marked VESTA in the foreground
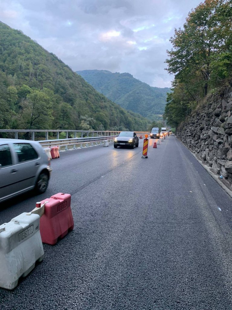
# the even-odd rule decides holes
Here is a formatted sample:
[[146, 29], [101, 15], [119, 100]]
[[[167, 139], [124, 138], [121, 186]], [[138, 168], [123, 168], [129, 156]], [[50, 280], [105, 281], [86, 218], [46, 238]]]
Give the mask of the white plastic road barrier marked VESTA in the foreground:
[[43, 258], [39, 215], [22, 213], [0, 226], [0, 287], [14, 289]]

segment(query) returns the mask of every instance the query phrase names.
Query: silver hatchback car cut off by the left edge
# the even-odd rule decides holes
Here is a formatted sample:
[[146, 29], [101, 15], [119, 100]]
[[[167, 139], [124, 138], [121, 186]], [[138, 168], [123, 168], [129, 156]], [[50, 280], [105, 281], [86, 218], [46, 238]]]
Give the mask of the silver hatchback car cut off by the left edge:
[[51, 170], [38, 142], [0, 139], [0, 202], [32, 189], [44, 193]]

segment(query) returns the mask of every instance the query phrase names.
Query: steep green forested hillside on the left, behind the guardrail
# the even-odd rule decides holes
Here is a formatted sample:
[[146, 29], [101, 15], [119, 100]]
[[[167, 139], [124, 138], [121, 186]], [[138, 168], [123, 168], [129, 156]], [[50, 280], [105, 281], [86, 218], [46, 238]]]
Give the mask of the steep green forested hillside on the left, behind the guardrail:
[[0, 128], [146, 130], [20, 30], [0, 22]]

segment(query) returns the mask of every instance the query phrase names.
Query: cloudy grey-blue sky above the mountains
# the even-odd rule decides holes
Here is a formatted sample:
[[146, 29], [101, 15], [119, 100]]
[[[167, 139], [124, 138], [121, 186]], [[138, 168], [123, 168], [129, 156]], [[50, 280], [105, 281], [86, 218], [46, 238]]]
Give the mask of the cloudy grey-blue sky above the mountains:
[[169, 87], [164, 68], [174, 28], [200, 0], [0, 0], [0, 20], [72, 70], [128, 72]]

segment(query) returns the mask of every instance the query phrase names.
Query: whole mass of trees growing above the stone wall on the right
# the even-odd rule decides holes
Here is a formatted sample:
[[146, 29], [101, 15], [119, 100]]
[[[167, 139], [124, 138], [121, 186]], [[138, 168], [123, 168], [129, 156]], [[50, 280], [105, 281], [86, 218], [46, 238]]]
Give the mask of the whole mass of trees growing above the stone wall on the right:
[[167, 51], [175, 75], [164, 117], [178, 124], [209, 91], [232, 78], [232, 1], [205, 0], [192, 10], [183, 29], [175, 29]]

